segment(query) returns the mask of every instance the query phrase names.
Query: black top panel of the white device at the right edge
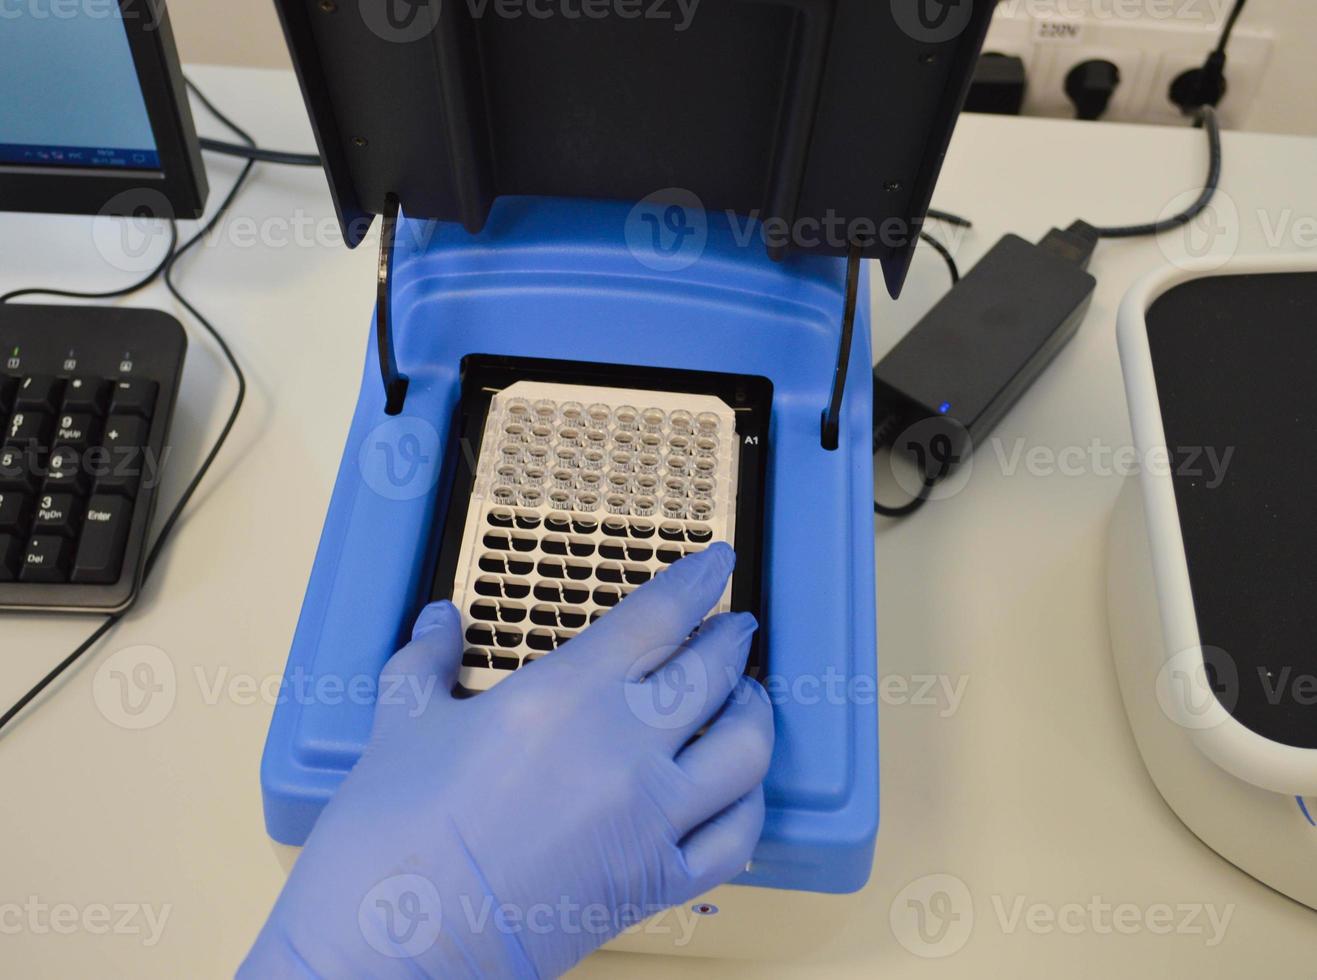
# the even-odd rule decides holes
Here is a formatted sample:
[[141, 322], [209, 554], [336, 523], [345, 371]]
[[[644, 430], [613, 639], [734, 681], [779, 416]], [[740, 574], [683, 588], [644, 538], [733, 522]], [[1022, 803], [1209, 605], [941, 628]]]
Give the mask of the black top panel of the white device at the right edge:
[[1317, 273], [1193, 279], [1147, 333], [1217, 697], [1317, 748]]

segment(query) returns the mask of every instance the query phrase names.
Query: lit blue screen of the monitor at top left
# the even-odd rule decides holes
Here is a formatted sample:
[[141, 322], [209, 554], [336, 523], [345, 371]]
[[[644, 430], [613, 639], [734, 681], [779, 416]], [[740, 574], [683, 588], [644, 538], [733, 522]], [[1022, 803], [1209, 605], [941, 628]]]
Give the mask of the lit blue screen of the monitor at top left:
[[115, 0], [4, 5], [0, 92], [0, 166], [161, 169]]

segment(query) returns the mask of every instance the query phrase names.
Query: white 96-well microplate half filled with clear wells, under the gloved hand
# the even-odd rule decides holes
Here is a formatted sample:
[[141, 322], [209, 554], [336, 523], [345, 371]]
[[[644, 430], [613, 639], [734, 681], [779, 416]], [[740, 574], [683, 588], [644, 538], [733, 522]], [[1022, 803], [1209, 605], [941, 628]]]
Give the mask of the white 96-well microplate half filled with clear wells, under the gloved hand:
[[[518, 381], [494, 395], [453, 577], [460, 682], [551, 653], [672, 562], [734, 541], [739, 444], [712, 395]], [[731, 606], [731, 586], [714, 612]]]

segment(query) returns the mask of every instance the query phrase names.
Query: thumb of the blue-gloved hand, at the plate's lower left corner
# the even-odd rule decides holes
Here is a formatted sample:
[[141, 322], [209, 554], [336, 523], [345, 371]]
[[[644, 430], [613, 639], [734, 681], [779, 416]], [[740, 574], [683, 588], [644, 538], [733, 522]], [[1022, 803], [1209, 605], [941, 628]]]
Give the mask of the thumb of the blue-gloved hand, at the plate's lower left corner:
[[379, 672], [377, 723], [415, 718], [452, 698], [462, 661], [461, 615], [452, 602], [432, 602], [416, 616], [412, 641]]

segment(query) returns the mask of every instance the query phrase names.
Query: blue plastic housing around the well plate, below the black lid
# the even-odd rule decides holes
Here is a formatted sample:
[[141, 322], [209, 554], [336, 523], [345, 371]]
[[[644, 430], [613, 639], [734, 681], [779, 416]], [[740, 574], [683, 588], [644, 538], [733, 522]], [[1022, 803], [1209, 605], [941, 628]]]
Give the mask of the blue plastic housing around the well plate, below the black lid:
[[[429, 594], [466, 354], [759, 374], [773, 383], [761, 678], [777, 746], [735, 884], [853, 892], [878, 826], [872, 371], [861, 279], [840, 447], [824, 450], [846, 259], [768, 258], [748, 219], [500, 198], [477, 234], [403, 219], [385, 415], [374, 339], [261, 764], [266, 827], [302, 844], [370, 735], [374, 682]], [[652, 236], [652, 238], [651, 238]], [[665, 242], [664, 236], [668, 236]], [[436, 751], [461, 751], [461, 746]]]

